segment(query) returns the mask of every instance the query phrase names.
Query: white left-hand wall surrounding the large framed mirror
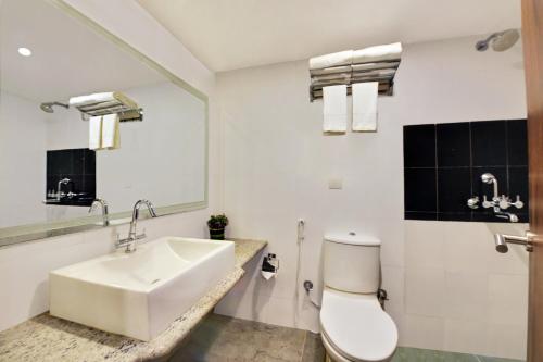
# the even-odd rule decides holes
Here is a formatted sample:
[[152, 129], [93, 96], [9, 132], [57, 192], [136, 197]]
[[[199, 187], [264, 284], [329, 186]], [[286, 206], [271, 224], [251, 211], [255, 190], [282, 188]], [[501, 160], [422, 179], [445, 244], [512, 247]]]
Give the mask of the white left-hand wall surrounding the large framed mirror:
[[[132, 1], [71, 0], [70, 3], [210, 96], [209, 208], [142, 222], [149, 239], [163, 235], [206, 236], [205, 221], [209, 214], [220, 210], [220, 128], [215, 116], [214, 74]], [[47, 311], [48, 272], [106, 253], [117, 232], [126, 234], [127, 227], [111, 227], [1, 248], [0, 330]]]

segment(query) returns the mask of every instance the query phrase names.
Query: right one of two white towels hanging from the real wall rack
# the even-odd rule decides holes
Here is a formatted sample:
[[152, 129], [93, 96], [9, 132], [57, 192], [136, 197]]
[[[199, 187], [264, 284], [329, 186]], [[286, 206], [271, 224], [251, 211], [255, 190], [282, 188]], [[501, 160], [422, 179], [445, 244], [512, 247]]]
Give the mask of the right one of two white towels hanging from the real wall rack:
[[355, 83], [353, 95], [353, 130], [377, 130], [377, 97], [379, 82]]

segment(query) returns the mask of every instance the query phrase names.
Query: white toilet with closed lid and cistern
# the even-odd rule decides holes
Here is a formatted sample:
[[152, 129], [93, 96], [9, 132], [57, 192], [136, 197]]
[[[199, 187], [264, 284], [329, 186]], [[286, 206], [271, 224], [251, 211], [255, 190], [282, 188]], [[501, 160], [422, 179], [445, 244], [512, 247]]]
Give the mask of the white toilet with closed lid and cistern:
[[390, 361], [394, 321], [379, 304], [381, 241], [354, 233], [327, 235], [324, 246], [320, 332], [327, 361]]

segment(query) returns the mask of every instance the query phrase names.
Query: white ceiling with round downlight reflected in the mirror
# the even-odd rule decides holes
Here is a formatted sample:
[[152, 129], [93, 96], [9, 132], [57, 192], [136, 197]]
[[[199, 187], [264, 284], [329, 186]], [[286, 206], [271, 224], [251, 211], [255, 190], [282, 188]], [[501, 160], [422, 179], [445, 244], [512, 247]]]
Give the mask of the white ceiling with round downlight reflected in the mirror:
[[[164, 82], [156, 71], [43, 0], [0, 3], [0, 85], [26, 99], [72, 96]], [[31, 57], [21, 57], [20, 47]]]

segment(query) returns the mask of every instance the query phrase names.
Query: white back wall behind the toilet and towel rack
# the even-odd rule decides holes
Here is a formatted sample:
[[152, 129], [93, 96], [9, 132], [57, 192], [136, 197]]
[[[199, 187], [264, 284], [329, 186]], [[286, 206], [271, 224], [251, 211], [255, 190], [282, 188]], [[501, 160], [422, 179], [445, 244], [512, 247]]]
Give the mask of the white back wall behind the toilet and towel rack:
[[[382, 240], [387, 307], [401, 345], [523, 355], [526, 253], [502, 255], [504, 265], [513, 267], [501, 270], [492, 225], [403, 221], [403, 125], [526, 116], [520, 46], [480, 53], [473, 49], [477, 39], [406, 46], [394, 97], [379, 98], [375, 134], [323, 135], [323, 104], [308, 101], [305, 61], [217, 76], [229, 232], [268, 239], [281, 260], [280, 275], [272, 283], [260, 278], [254, 264], [254, 274], [218, 305], [219, 313], [318, 329], [317, 311], [302, 291], [298, 321], [294, 308], [296, 220], [303, 217], [301, 279], [318, 286], [325, 233], [356, 230]], [[331, 177], [343, 179], [342, 190], [328, 189]], [[471, 262], [450, 264], [463, 258]], [[478, 278], [471, 279], [476, 272]], [[443, 297], [445, 288], [452, 298]], [[471, 296], [479, 294], [480, 299]], [[491, 312], [471, 328], [476, 302]], [[503, 319], [500, 308], [510, 317]], [[507, 334], [501, 341], [500, 332]]]

